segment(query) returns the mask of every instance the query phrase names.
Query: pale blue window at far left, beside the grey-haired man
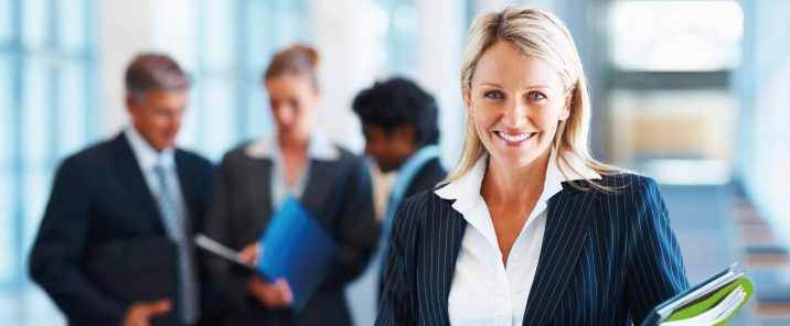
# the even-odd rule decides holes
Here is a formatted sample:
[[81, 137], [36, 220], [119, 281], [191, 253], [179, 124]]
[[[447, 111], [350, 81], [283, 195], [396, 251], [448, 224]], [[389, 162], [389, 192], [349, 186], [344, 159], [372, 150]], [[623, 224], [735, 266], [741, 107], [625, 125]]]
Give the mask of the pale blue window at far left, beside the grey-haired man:
[[92, 0], [0, 0], [0, 286], [18, 286], [56, 164], [98, 135]]

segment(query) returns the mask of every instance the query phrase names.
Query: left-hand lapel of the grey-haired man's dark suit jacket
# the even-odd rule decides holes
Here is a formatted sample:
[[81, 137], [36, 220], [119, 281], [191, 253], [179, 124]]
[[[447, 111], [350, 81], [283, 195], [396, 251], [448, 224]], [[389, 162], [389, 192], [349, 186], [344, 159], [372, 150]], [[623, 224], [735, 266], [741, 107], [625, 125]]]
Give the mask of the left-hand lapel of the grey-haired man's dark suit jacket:
[[146, 184], [142, 171], [140, 171], [140, 165], [137, 163], [137, 157], [135, 157], [135, 154], [131, 152], [131, 146], [124, 133], [120, 133], [120, 135], [114, 140], [114, 148], [118, 175], [124, 187], [129, 191], [136, 206], [142, 209], [142, 216], [156, 218], [156, 220], [152, 221], [163, 231], [164, 226], [159, 215], [159, 208], [157, 208], [151, 189], [149, 189], [148, 184]]

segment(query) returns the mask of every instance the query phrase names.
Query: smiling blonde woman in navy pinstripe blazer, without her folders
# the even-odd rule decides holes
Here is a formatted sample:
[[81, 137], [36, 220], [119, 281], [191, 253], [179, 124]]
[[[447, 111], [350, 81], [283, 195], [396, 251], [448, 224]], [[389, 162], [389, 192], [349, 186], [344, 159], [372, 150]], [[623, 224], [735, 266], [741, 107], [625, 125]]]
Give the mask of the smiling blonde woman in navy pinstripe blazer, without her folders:
[[588, 151], [587, 85], [555, 15], [479, 15], [461, 88], [460, 160], [398, 207], [376, 325], [639, 325], [688, 287], [656, 183]]

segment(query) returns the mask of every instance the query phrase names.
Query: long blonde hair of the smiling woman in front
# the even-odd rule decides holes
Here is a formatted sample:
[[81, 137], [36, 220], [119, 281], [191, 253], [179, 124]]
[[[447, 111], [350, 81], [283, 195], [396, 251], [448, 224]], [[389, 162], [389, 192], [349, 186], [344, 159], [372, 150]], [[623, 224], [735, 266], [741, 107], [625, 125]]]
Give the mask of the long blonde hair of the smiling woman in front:
[[[578, 156], [585, 166], [601, 175], [612, 175], [621, 170], [600, 163], [589, 152], [590, 99], [587, 80], [581, 68], [581, 59], [576, 51], [570, 32], [554, 14], [529, 7], [508, 7], [500, 12], [478, 15], [469, 30], [461, 65], [461, 89], [468, 93], [472, 87], [472, 77], [480, 56], [497, 42], [508, 42], [527, 56], [536, 57], [552, 66], [563, 80], [565, 89], [572, 91], [570, 113], [558, 122], [557, 132], [552, 141], [555, 160], [566, 181], [578, 189], [589, 189], [568, 180], [559, 160], [577, 175], [568, 162], [568, 154]], [[466, 135], [461, 155], [456, 167], [442, 184], [453, 182], [474, 166], [487, 153], [474, 128], [474, 120], [467, 116]], [[585, 177], [594, 188], [612, 191]]]

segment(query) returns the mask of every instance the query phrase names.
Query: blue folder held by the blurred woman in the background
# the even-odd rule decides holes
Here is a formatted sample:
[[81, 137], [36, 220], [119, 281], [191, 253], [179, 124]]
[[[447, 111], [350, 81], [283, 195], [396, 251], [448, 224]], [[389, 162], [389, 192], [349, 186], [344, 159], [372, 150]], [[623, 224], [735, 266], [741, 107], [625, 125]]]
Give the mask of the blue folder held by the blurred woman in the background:
[[259, 242], [258, 273], [270, 282], [285, 278], [293, 293], [291, 311], [300, 312], [334, 263], [338, 243], [290, 196], [274, 214]]

